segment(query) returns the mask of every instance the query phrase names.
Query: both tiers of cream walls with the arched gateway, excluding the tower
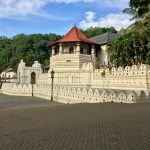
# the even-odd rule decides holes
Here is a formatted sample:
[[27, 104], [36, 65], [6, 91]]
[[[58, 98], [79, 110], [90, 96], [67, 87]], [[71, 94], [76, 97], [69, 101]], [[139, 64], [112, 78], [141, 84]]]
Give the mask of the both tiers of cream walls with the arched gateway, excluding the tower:
[[[150, 101], [150, 66], [133, 65], [95, 69], [93, 62], [83, 63], [79, 70], [53, 70], [54, 100], [63, 103], [96, 103], [123, 102], [136, 103]], [[51, 68], [52, 69], [52, 68]], [[26, 67], [21, 61], [18, 73], [21, 73], [22, 84], [3, 84], [2, 93], [8, 95], [24, 95], [51, 97], [51, 70], [41, 73], [41, 67], [35, 62], [32, 67]], [[36, 73], [37, 82], [30, 85], [31, 72]], [[28, 77], [29, 80], [27, 80]]]

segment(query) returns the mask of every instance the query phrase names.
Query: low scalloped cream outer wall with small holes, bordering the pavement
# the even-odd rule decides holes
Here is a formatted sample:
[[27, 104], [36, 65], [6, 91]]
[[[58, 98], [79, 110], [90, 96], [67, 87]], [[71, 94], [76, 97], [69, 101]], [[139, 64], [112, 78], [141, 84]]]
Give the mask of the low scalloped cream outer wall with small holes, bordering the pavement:
[[[70, 86], [54, 86], [54, 101], [62, 103], [142, 103], [150, 102], [150, 93], [143, 90], [117, 90], [101, 88], [85, 88]], [[34, 96], [51, 98], [51, 85], [17, 85], [3, 84], [2, 93], [9, 95]]]

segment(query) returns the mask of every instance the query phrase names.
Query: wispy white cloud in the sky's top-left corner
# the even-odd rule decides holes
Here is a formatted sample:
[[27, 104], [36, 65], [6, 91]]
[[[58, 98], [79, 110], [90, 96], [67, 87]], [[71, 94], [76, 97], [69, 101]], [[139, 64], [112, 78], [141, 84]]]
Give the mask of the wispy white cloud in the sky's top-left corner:
[[26, 15], [53, 18], [43, 12], [43, 8], [50, 3], [88, 3], [93, 1], [95, 0], [0, 0], [0, 18], [10, 18], [11, 16], [20, 18], [20, 16]]

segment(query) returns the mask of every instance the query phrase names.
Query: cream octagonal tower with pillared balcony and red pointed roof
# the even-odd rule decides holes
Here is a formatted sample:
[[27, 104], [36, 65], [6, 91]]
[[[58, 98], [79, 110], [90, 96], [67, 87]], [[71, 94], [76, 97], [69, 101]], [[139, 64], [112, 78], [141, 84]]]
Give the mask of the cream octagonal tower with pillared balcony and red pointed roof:
[[80, 70], [83, 63], [95, 62], [96, 43], [86, 38], [76, 26], [50, 46], [50, 68], [54, 70]]

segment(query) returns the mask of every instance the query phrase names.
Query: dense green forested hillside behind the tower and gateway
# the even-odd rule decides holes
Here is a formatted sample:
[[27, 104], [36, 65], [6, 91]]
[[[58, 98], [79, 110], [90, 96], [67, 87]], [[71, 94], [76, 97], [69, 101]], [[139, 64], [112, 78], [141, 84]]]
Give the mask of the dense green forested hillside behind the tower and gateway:
[[[89, 28], [81, 30], [88, 38], [105, 33], [107, 30], [116, 32], [111, 27]], [[56, 34], [19, 34], [12, 38], [0, 37], [0, 71], [4, 68], [17, 68], [20, 59], [24, 59], [27, 65], [31, 65], [38, 60], [43, 65], [49, 64], [51, 49], [48, 44], [60, 39]]]

